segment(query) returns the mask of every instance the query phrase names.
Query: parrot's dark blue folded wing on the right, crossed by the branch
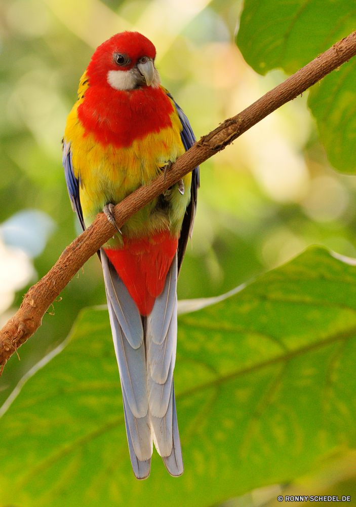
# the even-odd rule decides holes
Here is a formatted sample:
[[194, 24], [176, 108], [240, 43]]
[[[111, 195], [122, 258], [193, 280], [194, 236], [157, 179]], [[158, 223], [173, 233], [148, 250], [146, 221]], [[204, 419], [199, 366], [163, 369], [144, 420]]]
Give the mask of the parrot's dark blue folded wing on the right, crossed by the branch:
[[[177, 102], [174, 100], [172, 95], [167, 92], [167, 95], [173, 100], [176, 108], [177, 113], [180, 119], [180, 122], [182, 124], [182, 131], [180, 133], [183, 146], [185, 148], [185, 151], [189, 150], [195, 142], [195, 136], [193, 133], [193, 130], [190, 126], [188, 118], [185, 116], [183, 110]], [[194, 223], [194, 216], [195, 216], [195, 210], [196, 210], [196, 196], [197, 196], [197, 190], [200, 186], [200, 178], [199, 178], [199, 167], [195, 167], [195, 169], [192, 170], [191, 173], [191, 187], [190, 187], [190, 203], [187, 207], [186, 213], [184, 215], [184, 220], [182, 224], [182, 229], [180, 233], [180, 238], [178, 241], [178, 273], [183, 261], [185, 249], [187, 247], [188, 238], [191, 237], [191, 233], [193, 230], [193, 223]]]

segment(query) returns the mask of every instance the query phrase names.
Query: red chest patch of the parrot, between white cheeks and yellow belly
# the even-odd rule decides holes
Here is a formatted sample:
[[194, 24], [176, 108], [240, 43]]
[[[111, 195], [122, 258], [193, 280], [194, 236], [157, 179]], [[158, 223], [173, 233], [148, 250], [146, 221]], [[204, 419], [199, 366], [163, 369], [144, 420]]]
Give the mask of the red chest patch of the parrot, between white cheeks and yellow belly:
[[135, 139], [171, 127], [172, 103], [162, 88], [142, 87], [122, 91], [111, 87], [89, 87], [78, 107], [85, 130], [103, 144], [129, 147]]

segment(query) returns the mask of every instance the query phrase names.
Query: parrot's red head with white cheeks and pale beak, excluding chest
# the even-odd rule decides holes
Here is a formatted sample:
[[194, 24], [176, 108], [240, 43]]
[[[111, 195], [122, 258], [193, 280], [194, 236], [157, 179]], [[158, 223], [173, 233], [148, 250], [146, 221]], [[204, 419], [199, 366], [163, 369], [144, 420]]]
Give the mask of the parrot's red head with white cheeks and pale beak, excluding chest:
[[93, 54], [87, 68], [89, 84], [116, 90], [156, 87], [161, 80], [153, 64], [155, 55], [155, 47], [141, 33], [116, 33]]

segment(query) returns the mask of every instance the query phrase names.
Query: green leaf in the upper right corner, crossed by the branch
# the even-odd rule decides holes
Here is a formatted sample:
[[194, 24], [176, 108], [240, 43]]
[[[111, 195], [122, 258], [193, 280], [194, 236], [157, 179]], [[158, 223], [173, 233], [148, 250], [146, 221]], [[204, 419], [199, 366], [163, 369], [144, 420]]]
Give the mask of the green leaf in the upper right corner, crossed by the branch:
[[[246, 0], [237, 43], [258, 73], [293, 74], [356, 27], [353, 0]], [[309, 106], [331, 164], [356, 171], [356, 61], [316, 84]]]

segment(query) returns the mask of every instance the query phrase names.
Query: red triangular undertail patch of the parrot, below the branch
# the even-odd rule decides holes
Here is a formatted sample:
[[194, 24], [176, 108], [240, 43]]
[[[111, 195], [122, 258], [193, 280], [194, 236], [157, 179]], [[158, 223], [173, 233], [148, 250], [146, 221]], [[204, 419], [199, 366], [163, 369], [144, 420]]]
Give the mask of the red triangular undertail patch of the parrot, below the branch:
[[165, 231], [150, 238], [124, 238], [120, 250], [105, 248], [141, 315], [151, 313], [155, 298], [162, 293], [177, 247], [178, 238]]

